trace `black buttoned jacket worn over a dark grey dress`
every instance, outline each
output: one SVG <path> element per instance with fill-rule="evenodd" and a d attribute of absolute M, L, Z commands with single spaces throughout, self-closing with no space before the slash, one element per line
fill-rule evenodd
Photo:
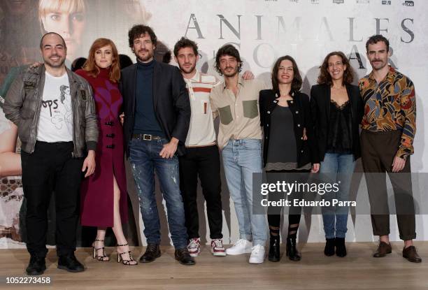
<path fill-rule="evenodd" d="M 309 107 L 309 97 L 301 92 L 292 92 L 292 101 L 288 101 L 294 121 L 294 138 L 297 145 L 297 166 L 301 167 L 308 163 L 319 163 L 317 147 L 313 142 L 313 124 L 311 110 Z M 278 106 L 276 93 L 272 89 L 264 89 L 259 93 L 260 125 L 263 126 L 263 166 L 266 166 L 267 152 L 269 149 L 271 113 Z M 304 129 L 308 140 L 303 140 Z M 287 148 L 284 148 L 287 150 Z"/>

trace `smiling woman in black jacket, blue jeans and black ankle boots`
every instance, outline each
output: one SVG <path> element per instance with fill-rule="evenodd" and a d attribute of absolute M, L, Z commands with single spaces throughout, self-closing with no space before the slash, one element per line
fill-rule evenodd
<path fill-rule="evenodd" d="M 359 124 L 363 114 L 359 89 L 351 85 L 352 67 L 343 52 L 330 52 L 311 89 L 311 112 L 320 157 L 322 179 L 338 182 L 338 201 L 349 201 L 355 160 L 360 157 Z M 322 208 L 326 245 L 324 254 L 346 256 L 348 207 Z"/>

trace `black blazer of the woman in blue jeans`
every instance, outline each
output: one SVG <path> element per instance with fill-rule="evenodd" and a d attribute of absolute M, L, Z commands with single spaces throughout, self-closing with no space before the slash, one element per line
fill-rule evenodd
<path fill-rule="evenodd" d="M 352 154 L 354 160 L 361 156 L 361 147 L 359 145 L 359 124 L 363 116 L 363 102 L 359 95 L 359 89 L 355 85 L 346 85 L 346 92 L 351 105 L 352 119 Z M 324 160 L 327 150 L 327 136 L 330 121 L 330 100 L 331 87 L 329 85 L 313 85 L 311 88 L 311 113 L 313 124 L 315 126 L 315 138 L 318 145 L 318 155 L 320 160 Z"/>

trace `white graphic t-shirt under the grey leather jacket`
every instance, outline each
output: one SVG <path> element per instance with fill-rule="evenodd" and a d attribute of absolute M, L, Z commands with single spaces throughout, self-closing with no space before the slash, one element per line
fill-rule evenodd
<path fill-rule="evenodd" d="M 73 113 L 69 75 L 55 77 L 45 72 L 43 101 L 38 121 L 37 140 L 68 142 L 73 140 Z"/>

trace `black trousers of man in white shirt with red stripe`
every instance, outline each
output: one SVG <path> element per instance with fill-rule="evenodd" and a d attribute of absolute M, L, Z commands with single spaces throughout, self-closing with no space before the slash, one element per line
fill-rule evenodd
<path fill-rule="evenodd" d="M 210 238 L 223 238 L 222 198 L 220 180 L 220 154 L 217 145 L 188 147 L 180 157 L 180 189 L 185 205 L 187 234 L 199 238 L 199 216 L 197 206 L 198 176 L 202 194 L 206 201 Z"/>

